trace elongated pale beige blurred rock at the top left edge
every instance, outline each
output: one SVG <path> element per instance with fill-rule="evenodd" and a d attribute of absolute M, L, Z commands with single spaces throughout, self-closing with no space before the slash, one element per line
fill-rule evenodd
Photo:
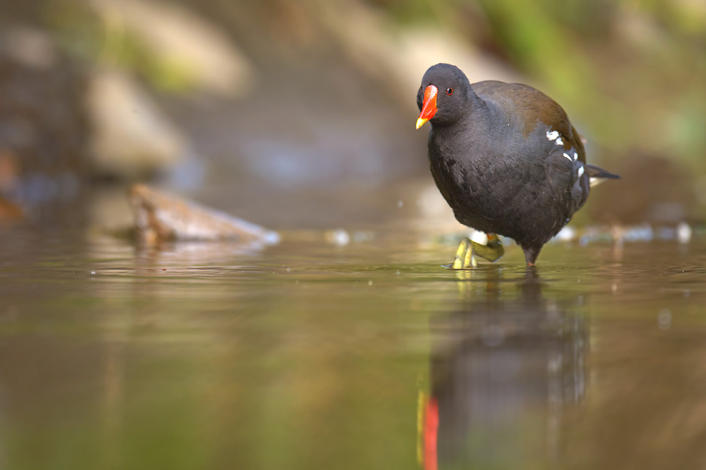
<path fill-rule="evenodd" d="M 92 4 L 120 41 L 138 37 L 160 68 L 184 76 L 194 85 L 238 97 L 253 83 L 253 68 L 213 23 L 184 6 L 148 0 L 94 0 Z"/>

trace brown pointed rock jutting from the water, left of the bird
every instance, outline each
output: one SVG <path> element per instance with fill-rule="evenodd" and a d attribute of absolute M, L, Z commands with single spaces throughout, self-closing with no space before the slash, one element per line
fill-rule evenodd
<path fill-rule="evenodd" d="M 232 240 L 238 243 L 277 243 L 279 234 L 217 210 L 136 184 L 128 192 L 140 241 Z"/>

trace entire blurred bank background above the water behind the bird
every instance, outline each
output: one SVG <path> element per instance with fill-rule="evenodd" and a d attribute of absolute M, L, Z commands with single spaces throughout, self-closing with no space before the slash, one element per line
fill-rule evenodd
<path fill-rule="evenodd" d="M 419 211 L 414 93 L 440 61 L 543 90 L 623 176 L 576 223 L 706 214 L 703 1 L 37 0 L 0 18 L 6 218 L 91 222 L 136 180 L 275 228 Z"/>

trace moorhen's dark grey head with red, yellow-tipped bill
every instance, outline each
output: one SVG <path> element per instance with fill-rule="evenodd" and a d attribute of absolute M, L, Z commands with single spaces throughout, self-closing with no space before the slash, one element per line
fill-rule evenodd
<path fill-rule="evenodd" d="M 417 90 L 419 107 L 419 129 L 426 121 L 433 124 L 453 123 L 467 112 L 471 84 L 465 73 L 451 64 L 436 64 L 429 67 L 421 78 Z"/>

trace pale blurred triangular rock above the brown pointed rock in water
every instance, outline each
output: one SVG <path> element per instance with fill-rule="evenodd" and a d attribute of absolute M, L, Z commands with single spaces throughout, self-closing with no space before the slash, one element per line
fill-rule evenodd
<path fill-rule="evenodd" d="M 88 87 L 88 109 L 99 174 L 138 179 L 173 167 L 187 152 L 184 135 L 126 73 L 96 70 Z"/>

